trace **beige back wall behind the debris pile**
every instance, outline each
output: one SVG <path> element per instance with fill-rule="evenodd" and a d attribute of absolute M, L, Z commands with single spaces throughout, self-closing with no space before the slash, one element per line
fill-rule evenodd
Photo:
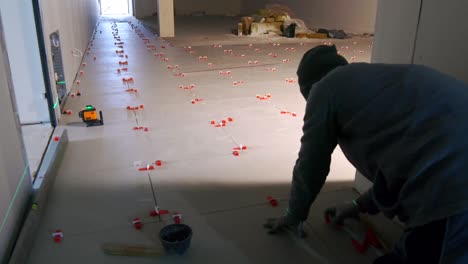
<path fill-rule="evenodd" d="M 251 14 L 266 4 L 289 6 L 295 17 L 312 29 L 344 29 L 352 33 L 373 33 L 377 0 L 243 0 L 242 13 Z"/>

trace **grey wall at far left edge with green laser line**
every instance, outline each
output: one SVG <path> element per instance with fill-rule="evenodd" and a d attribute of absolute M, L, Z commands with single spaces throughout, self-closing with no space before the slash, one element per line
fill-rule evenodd
<path fill-rule="evenodd" d="M 3 16 L 5 9 L 1 9 Z M 12 249 L 31 191 L 0 17 L 0 263 Z"/>

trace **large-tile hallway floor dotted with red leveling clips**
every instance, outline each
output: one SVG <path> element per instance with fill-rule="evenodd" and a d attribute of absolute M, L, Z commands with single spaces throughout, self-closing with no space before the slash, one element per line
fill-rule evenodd
<path fill-rule="evenodd" d="M 30 264 L 372 262 L 372 251 L 357 253 L 348 236 L 322 220 L 326 207 L 357 196 L 351 189 L 354 169 L 339 149 L 326 188 L 310 211 L 309 236 L 270 236 L 262 228 L 266 218 L 281 215 L 287 205 L 305 103 L 297 83 L 285 79 L 296 80 L 301 55 L 312 44 L 214 48 L 217 43 L 211 43 L 190 50 L 171 47 L 138 22 L 129 22 L 117 23 L 117 33 L 110 21 L 101 21 L 84 59 L 84 74 L 72 89 L 80 89 L 82 96 L 68 100 L 66 108 L 74 115 L 62 117 L 70 142 Z M 119 41 L 113 32 L 124 42 L 123 49 L 115 44 Z M 371 39 L 356 41 L 339 48 L 348 59 L 368 60 Z M 116 53 L 120 50 L 123 58 Z M 181 73 L 185 76 L 175 76 Z M 127 86 L 122 78 L 130 77 L 134 83 Z M 243 83 L 234 85 L 236 81 Z M 271 100 L 256 97 L 265 94 L 271 94 Z M 104 126 L 87 128 L 80 122 L 77 113 L 87 104 L 103 111 Z M 228 118 L 232 122 L 225 127 L 210 123 Z M 234 156 L 233 148 L 240 144 L 247 150 Z M 148 173 L 138 170 L 156 160 L 162 166 L 150 171 L 150 177 L 159 206 L 181 213 L 193 228 L 191 248 L 181 257 L 157 259 L 105 255 L 100 250 L 104 242 L 161 247 L 158 232 L 173 220 L 165 215 L 161 223 L 149 216 L 153 202 Z M 269 205 L 270 195 L 280 199 L 278 207 Z M 143 220 L 140 231 L 132 226 L 137 217 Z M 51 235 L 56 229 L 64 235 L 59 244 Z"/>

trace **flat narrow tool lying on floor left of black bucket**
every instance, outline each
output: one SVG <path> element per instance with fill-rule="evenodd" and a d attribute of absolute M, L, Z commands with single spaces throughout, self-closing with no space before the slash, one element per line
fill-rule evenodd
<path fill-rule="evenodd" d="M 101 245 L 101 249 L 107 255 L 112 256 L 162 257 L 166 255 L 163 249 L 140 245 L 105 243 Z"/>

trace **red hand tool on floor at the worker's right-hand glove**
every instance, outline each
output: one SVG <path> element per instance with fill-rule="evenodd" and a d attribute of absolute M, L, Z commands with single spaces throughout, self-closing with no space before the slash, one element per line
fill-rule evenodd
<path fill-rule="evenodd" d="M 330 211 L 325 212 L 325 223 L 332 224 L 333 215 Z M 347 218 L 342 224 L 336 227 L 345 231 L 350 237 L 351 242 L 359 253 L 364 253 L 368 248 L 373 248 L 377 255 L 384 255 L 385 249 L 381 240 L 377 237 L 374 230 L 367 226 L 359 217 Z"/>

